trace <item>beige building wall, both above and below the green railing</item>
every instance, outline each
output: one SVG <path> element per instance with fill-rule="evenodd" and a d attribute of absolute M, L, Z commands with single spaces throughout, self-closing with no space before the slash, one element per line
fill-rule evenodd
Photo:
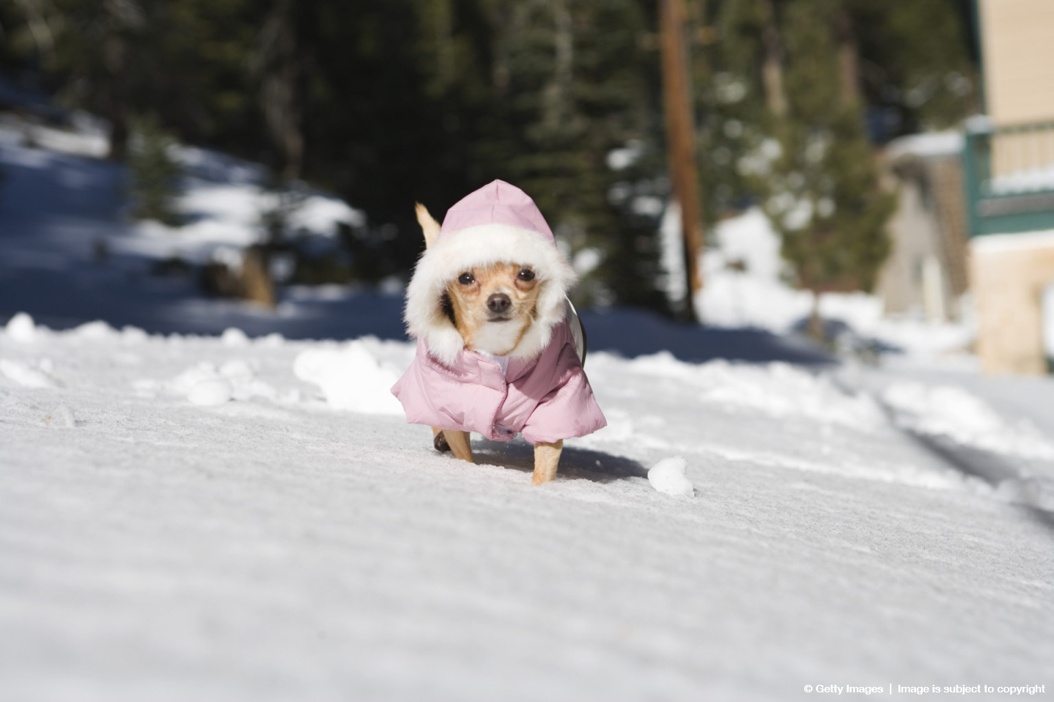
<path fill-rule="evenodd" d="M 1054 122 L 1054 0 L 977 3 L 988 116 L 999 127 Z M 1054 167 L 1054 131 L 997 134 L 991 159 L 994 183 L 1036 189 L 1029 183 Z M 983 369 L 1047 373 L 1042 299 L 1054 283 L 1054 230 L 975 237 L 970 259 Z"/>

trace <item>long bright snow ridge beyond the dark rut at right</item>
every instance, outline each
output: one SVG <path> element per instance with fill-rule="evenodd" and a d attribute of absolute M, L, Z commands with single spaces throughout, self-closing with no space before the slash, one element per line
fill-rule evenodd
<path fill-rule="evenodd" d="M 1030 423 L 1012 424 L 960 387 L 897 382 L 882 393 L 898 425 L 946 437 L 984 450 L 1032 459 L 1054 459 L 1054 445 Z"/>

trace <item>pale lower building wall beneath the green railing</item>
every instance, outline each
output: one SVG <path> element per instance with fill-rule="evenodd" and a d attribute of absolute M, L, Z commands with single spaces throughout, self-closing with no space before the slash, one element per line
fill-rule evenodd
<path fill-rule="evenodd" d="M 1047 373 L 1042 298 L 1054 283 L 1054 232 L 978 237 L 971 259 L 982 368 Z"/>

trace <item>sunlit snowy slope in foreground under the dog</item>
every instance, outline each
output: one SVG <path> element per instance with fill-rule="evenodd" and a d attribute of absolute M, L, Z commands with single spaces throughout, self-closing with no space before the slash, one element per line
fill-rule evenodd
<path fill-rule="evenodd" d="M 950 467 L 880 394 L 593 355 L 610 425 L 532 487 L 529 446 L 469 465 L 389 414 L 412 353 L 9 322 L 0 700 L 1051 689 L 1052 513 Z M 646 478 L 675 456 L 694 497 Z"/>

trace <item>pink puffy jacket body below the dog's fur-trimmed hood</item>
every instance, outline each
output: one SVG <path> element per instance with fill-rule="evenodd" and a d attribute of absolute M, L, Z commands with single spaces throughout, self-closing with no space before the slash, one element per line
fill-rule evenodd
<path fill-rule="evenodd" d="M 607 424 L 566 319 L 552 327 L 541 356 L 509 358 L 504 376 L 496 361 L 467 348 L 452 366 L 444 365 L 418 338 L 417 357 L 392 393 L 412 424 L 475 432 L 492 441 L 522 432 L 531 443 L 552 443 Z"/>

